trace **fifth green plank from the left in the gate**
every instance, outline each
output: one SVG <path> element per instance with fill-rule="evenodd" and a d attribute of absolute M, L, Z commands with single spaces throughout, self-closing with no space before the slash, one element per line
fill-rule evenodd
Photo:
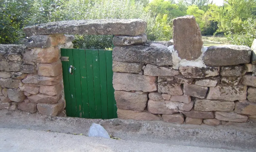
<path fill-rule="evenodd" d="M 95 102 L 94 102 L 94 81 L 93 81 L 93 50 L 85 50 L 86 70 L 87 70 L 87 88 L 89 100 L 89 113 L 90 118 L 95 119 Z"/>

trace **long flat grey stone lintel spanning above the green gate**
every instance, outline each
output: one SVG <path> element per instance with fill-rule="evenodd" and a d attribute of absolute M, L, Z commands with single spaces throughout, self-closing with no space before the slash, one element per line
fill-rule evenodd
<path fill-rule="evenodd" d="M 27 36 L 47 34 L 130 35 L 145 33 L 141 19 L 97 19 L 57 21 L 23 28 Z"/>

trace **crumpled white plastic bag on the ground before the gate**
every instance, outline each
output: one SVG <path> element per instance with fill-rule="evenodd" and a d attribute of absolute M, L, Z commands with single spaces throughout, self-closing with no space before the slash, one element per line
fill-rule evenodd
<path fill-rule="evenodd" d="M 95 123 L 92 123 L 92 125 L 90 126 L 88 136 L 110 138 L 108 132 L 100 124 Z"/>

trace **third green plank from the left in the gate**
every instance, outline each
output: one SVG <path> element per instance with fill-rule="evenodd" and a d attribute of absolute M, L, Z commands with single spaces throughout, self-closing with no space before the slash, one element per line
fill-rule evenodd
<path fill-rule="evenodd" d="M 74 66 L 74 80 L 75 80 L 75 92 L 76 92 L 76 103 L 77 103 L 77 117 L 82 118 L 83 115 L 83 102 L 82 102 L 82 89 L 80 79 L 80 62 L 79 52 L 81 49 L 72 49 L 73 53 L 73 66 Z"/>

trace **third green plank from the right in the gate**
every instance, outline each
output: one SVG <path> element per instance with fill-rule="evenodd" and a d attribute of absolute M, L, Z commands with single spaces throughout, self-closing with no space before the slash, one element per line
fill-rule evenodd
<path fill-rule="evenodd" d="M 93 80 L 94 80 L 94 99 L 96 118 L 101 119 L 101 86 L 100 86 L 100 66 L 99 66 L 99 51 L 93 50 Z"/>

